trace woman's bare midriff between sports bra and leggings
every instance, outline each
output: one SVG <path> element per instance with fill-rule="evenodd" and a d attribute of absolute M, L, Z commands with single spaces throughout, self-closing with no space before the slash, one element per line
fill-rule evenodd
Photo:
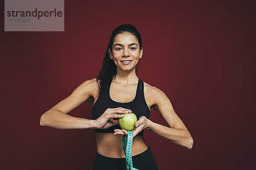
<path fill-rule="evenodd" d="M 113 133 L 96 132 L 97 152 L 103 156 L 111 158 L 125 158 L 122 148 L 122 135 Z M 143 136 L 134 136 L 132 142 L 131 156 L 137 155 L 148 149 Z"/>

